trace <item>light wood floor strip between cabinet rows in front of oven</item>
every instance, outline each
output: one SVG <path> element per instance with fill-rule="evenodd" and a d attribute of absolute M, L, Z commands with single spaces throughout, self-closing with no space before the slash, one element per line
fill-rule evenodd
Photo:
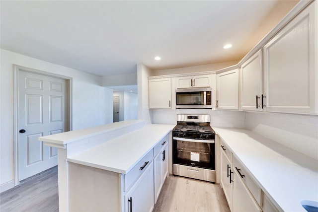
<path fill-rule="evenodd" d="M 153 212 L 230 212 L 220 185 L 169 175 Z"/>

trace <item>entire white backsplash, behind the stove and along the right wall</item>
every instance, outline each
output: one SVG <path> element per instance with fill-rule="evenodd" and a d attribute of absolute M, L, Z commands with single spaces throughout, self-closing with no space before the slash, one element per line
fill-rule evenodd
<path fill-rule="evenodd" d="M 318 160 L 318 116 L 207 109 L 151 111 L 154 124 L 176 124 L 177 114 L 209 114 L 212 128 L 245 128 Z"/>

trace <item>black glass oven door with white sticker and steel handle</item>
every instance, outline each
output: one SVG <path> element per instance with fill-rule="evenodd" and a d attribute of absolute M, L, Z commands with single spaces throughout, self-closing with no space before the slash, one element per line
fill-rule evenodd
<path fill-rule="evenodd" d="M 173 164 L 215 170 L 215 141 L 173 137 Z"/>

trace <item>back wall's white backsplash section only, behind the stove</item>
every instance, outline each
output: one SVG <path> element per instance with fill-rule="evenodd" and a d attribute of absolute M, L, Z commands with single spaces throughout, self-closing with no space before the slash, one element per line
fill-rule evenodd
<path fill-rule="evenodd" d="M 154 124 L 176 124 L 177 114 L 209 114 L 211 127 L 244 128 L 245 115 L 242 111 L 216 111 L 209 109 L 152 110 Z"/>

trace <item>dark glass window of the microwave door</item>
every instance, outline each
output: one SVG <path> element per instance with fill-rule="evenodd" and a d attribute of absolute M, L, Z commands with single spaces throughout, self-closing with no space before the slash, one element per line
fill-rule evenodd
<path fill-rule="evenodd" d="M 182 92 L 176 94 L 177 105 L 203 105 L 204 92 Z"/>

